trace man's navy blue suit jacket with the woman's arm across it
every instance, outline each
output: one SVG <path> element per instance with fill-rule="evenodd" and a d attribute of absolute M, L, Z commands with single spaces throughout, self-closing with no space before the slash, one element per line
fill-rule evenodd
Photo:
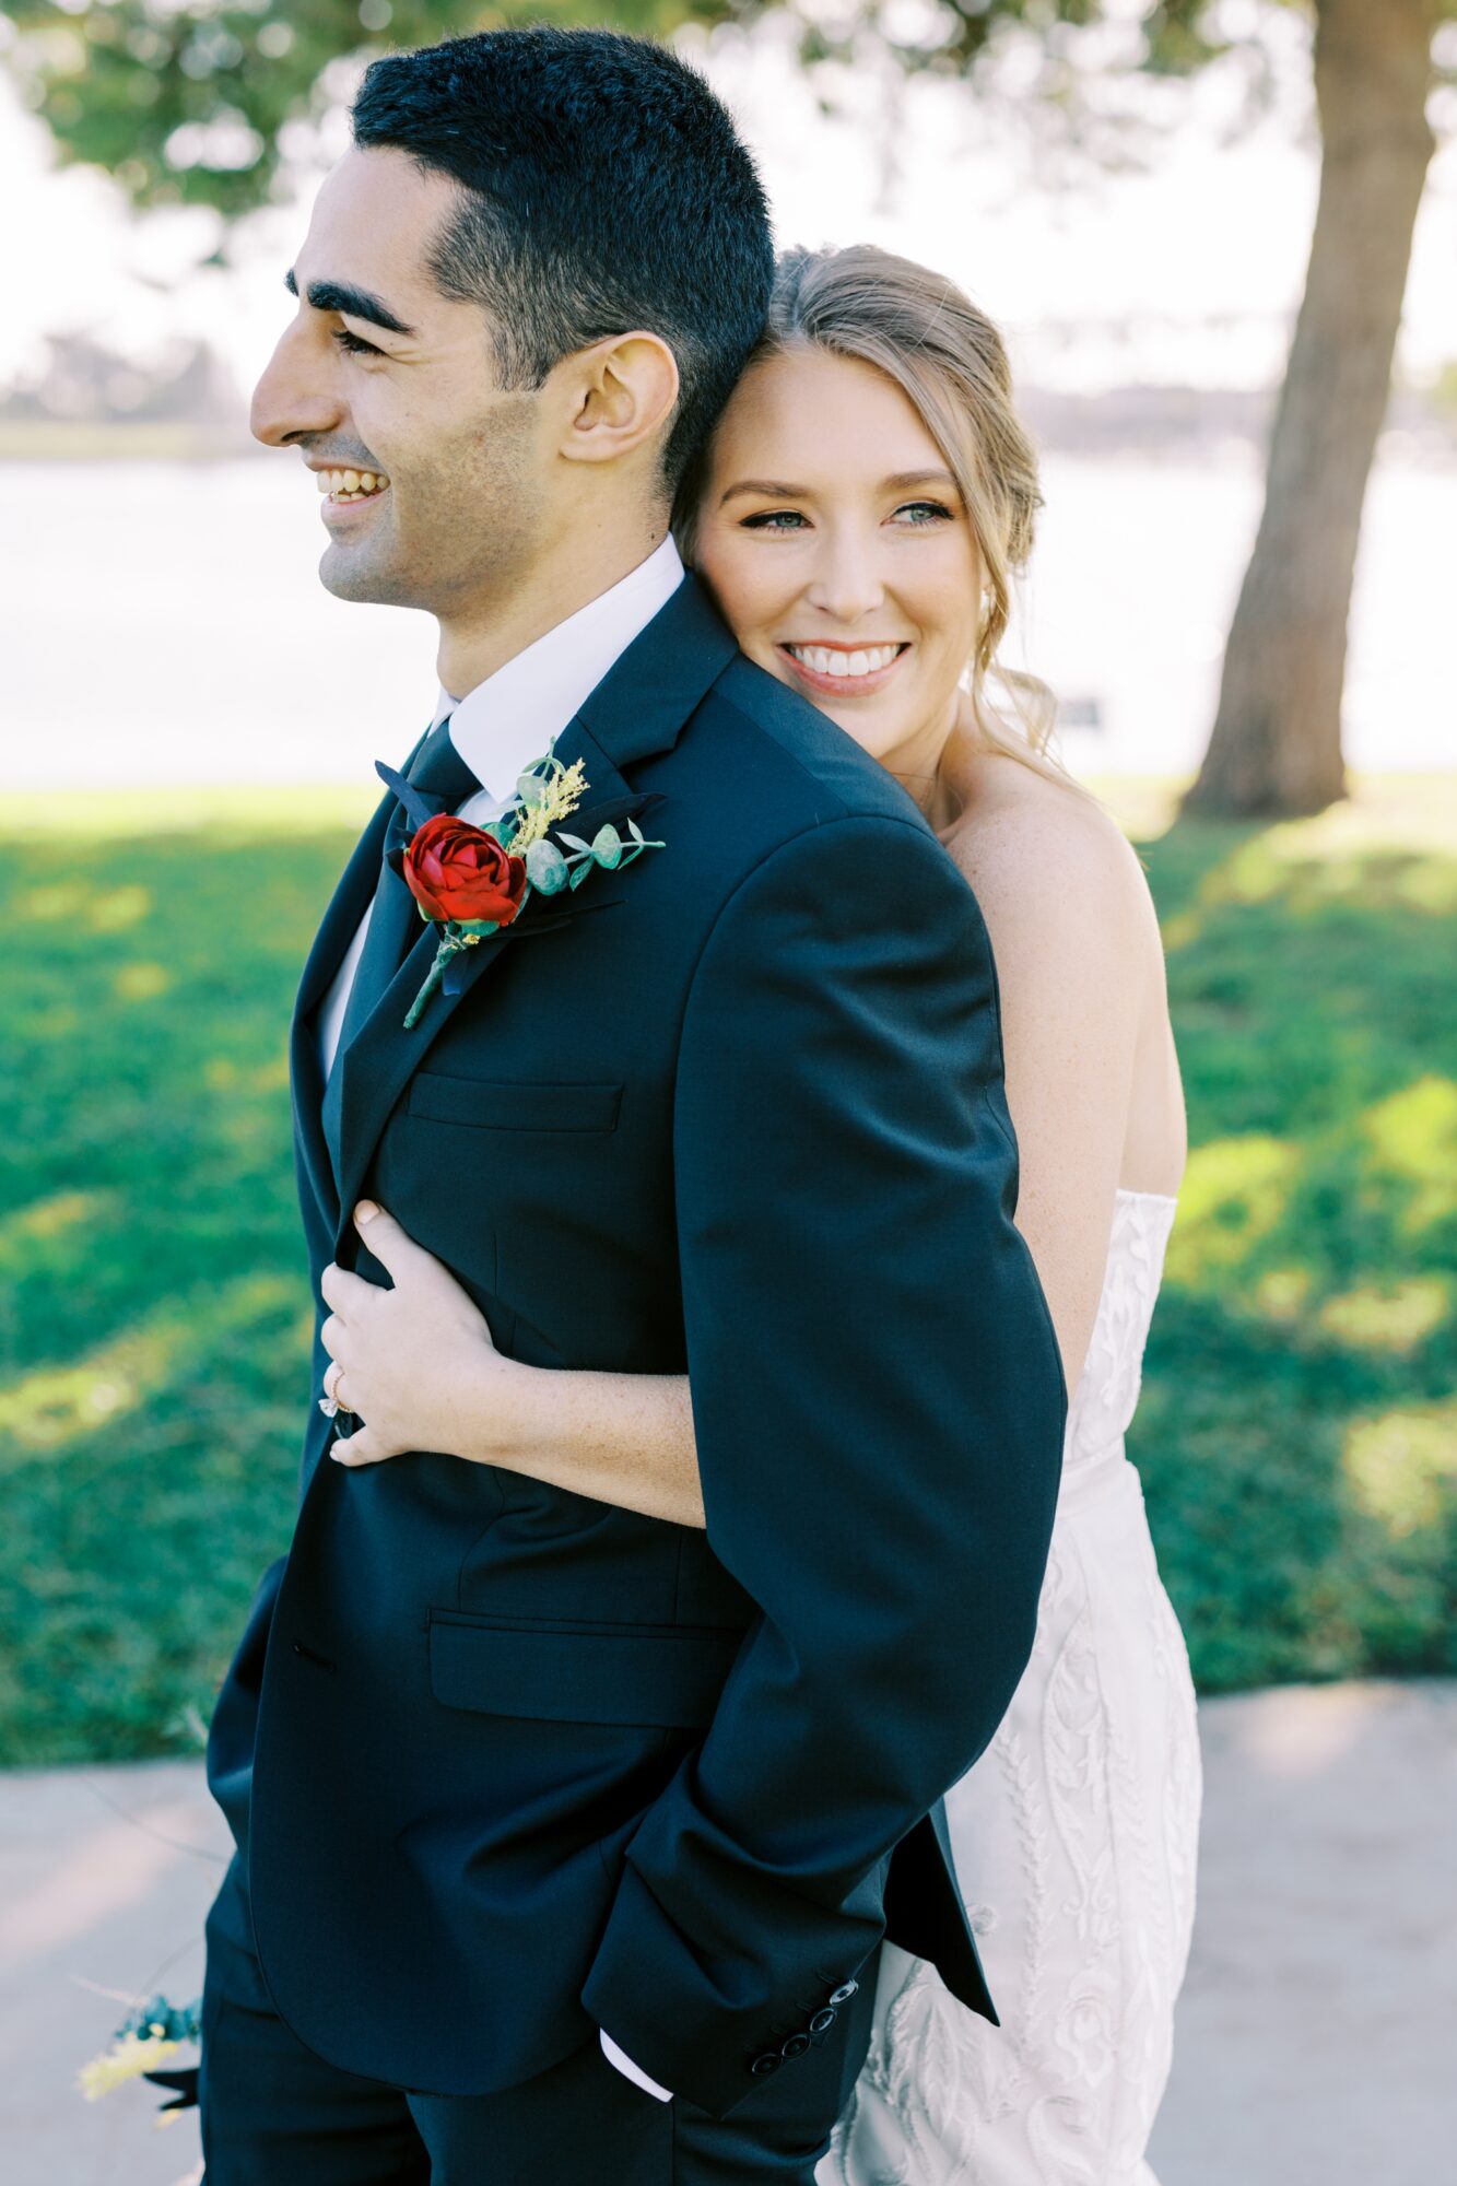
<path fill-rule="evenodd" d="M 707 1535 L 440 1452 L 346 1471 L 311 1403 L 208 1768 L 311 2048 L 477 2094 L 602 2024 L 722 2116 L 834 2040 L 886 1919 L 995 2018 L 936 1801 L 1030 1653 L 1065 1390 L 987 931 L 914 804 L 693 579 L 558 754 L 573 833 L 654 796 L 665 848 L 405 1032 L 422 929 L 330 1143 L 315 1012 L 394 798 L 348 863 L 293 1021 L 311 1272 L 387 1281 L 368 1191 L 510 1358 L 687 1371 Z"/>

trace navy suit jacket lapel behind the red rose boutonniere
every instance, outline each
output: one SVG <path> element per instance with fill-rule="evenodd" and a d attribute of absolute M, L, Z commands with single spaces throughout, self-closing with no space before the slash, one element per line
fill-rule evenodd
<path fill-rule="evenodd" d="M 707 603 L 707 597 L 693 577 L 685 577 L 667 606 L 652 619 L 652 623 L 648 623 L 632 645 L 628 645 L 575 719 L 556 739 L 556 756 L 564 765 L 582 759 L 588 785 L 582 804 L 567 822 L 567 828 L 573 835 L 582 835 L 591 842 L 604 818 L 613 818 L 621 804 L 637 804 L 632 787 L 621 774 L 621 765 L 634 759 L 645 759 L 648 754 L 667 750 L 676 743 L 683 724 L 693 713 L 709 684 L 713 684 L 728 667 L 735 651 L 737 647 L 731 632 Z M 387 807 L 392 804 L 394 798 L 387 798 L 385 807 L 381 807 L 370 824 L 368 839 L 374 844 L 370 888 L 378 877 L 378 859 L 389 820 Z M 648 833 L 652 831 L 648 828 Z M 365 844 L 361 842 L 354 859 L 350 859 L 343 881 L 339 883 L 339 894 L 343 894 L 346 883 L 354 872 L 354 863 L 363 857 L 363 850 Z M 632 881 L 628 872 L 621 877 L 621 890 L 630 885 Z M 481 982 L 490 979 L 494 966 L 508 949 L 534 933 L 549 933 L 569 918 L 591 916 L 593 909 L 604 909 L 608 903 L 617 901 L 621 890 L 617 885 L 617 874 L 595 872 L 591 881 L 584 883 L 580 894 L 573 894 L 571 898 L 532 896 L 516 925 L 505 927 L 501 933 L 486 936 L 468 949 L 464 957 L 457 957 L 457 990 L 451 995 L 444 988 L 435 988 L 422 1016 L 407 1032 L 405 1014 L 424 986 L 424 977 L 435 962 L 435 949 L 440 944 L 440 933 L 433 925 L 420 929 L 420 938 L 400 964 L 400 971 L 389 982 L 378 1003 L 350 1041 L 348 1049 L 341 1049 L 335 1058 L 335 1069 L 343 1073 L 339 1084 L 339 1141 L 330 1148 L 335 1170 L 328 1174 L 330 1196 L 335 1176 L 339 1187 L 337 1196 L 333 1196 L 337 1259 L 341 1259 L 352 1239 L 350 1209 L 359 1198 L 365 1172 L 374 1159 L 374 1148 L 378 1145 L 389 1113 L 400 1100 L 411 1073 L 431 1051 L 433 1043 L 451 1023 L 466 995 L 475 992 Z M 363 901 L 368 901 L 368 896 Z M 363 916 L 363 901 L 359 901 L 357 916 Z M 326 925 L 333 916 L 335 905 L 330 905 Z M 339 925 L 343 925 L 343 914 L 339 914 Z M 352 933 L 352 925 L 348 931 Z M 348 947 L 348 938 L 343 944 Z M 343 951 L 339 949 L 339 955 Z M 333 962 L 337 968 L 337 955 Z M 319 1139 L 322 1137 L 324 1132 L 319 1126 Z M 324 1165 L 328 1170 L 328 1159 Z"/>

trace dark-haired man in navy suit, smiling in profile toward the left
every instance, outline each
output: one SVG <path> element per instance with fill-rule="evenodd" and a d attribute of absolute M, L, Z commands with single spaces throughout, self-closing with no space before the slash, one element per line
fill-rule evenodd
<path fill-rule="evenodd" d="M 770 271 L 702 81 L 543 28 L 376 61 L 289 275 L 254 431 L 343 474 L 324 584 L 429 610 L 448 693 L 300 986 L 315 1290 L 387 1281 L 370 1194 L 508 1355 L 687 1368 L 707 1537 L 346 1469 L 311 1401 L 208 1742 L 210 2186 L 805 2186 L 882 1928 L 995 2018 L 936 1801 L 1030 1650 L 1063 1382 L 974 898 L 667 536 Z M 499 813 L 553 739 L 569 831 L 663 848 L 407 1030 L 418 813 Z"/>

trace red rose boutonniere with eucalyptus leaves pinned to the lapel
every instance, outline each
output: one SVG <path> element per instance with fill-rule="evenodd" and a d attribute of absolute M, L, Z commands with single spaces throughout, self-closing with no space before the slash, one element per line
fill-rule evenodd
<path fill-rule="evenodd" d="M 378 772 L 389 780 L 392 769 Z M 392 787 L 398 789 L 398 776 Z M 416 828 L 400 872 L 420 918 L 440 927 L 440 947 L 405 1014 L 407 1032 L 453 960 L 479 947 L 488 933 L 514 925 L 532 892 L 556 896 L 562 888 L 578 890 L 597 866 L 617 870 L 643 850 L 665 848 L 648 842 L 637 820 L 628 820 L 626 837 L 610 822 L 591 842 L 569 835 L 562 820 L 571 818 L 588 787 L 580 759 L 567 767 L 547 752 L 518 776 L 514 800 L 486 826 L 473 826 L 455 813 L 435 813 Z"/>

